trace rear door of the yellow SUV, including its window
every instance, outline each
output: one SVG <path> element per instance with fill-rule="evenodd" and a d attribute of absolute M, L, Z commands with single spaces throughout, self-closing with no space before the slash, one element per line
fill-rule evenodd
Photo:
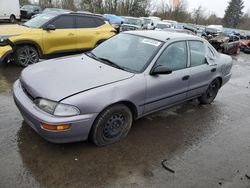
<path fill-rule="evenodd" d="M 105 22 L 99 18 L 91 16 L 77 16 L 77 48 L 94 48 L 98 39 L 100 39 L 103 34 L 99 27 L 104 24 Z"/>

